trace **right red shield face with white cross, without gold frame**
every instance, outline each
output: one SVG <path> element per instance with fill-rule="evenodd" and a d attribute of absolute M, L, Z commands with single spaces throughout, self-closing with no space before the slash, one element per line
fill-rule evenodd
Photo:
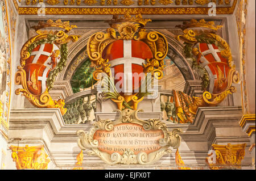
<path fill-rule="evenodd" d="M 209 92 L 218 94 L 228 86 L 228 73 L 230 67 L 228 61 L 221 55 L 221 50 L 214 44 L 197 44 L 200 57 L 200 66 L 204 67 L 210 79 Z"/>

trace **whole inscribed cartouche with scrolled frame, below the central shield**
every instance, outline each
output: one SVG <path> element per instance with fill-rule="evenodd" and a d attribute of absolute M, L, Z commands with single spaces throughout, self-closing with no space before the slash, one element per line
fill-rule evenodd
<path fill-rule="evenodd" d="M 77 131 L 77 144 L 82 150 L 90 149 L 90 155 L 97 155 L 108 164 L 129 165 L 154 163 L 171 153 L 170 147 L 179 147 L 181 129 L 168 132 L 166 124 L 158 119 L 138 119 L 137 112 L 142 110 L 117 111 L 117 120 L 100 120 L 89 132 Z M 138 137 L 144 141 L 138 142 Z"/>

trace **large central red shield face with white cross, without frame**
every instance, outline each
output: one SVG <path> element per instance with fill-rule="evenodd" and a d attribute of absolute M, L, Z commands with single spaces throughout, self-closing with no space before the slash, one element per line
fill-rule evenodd
<path fill-rule="evenodd" d="M 102 58 L 108 59 L 114 70 L 115 86 L 126 95 L 133 94 L 141 86 L 144 78 L 143 63 L 153 58 L 146 43 L 138 40 L 115 40 L 102 52 Z"/>

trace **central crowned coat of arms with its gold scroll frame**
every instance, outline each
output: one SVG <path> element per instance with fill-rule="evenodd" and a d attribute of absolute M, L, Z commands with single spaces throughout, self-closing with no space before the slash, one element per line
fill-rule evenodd
<path fill-rule="evenodd" d="M 139 83 L 136 84 L 135 75 L 151 73 L 158 79 L 163 77 L 163 60 L 168 52 L 168 44 L 162 33 L 146 32 L 144 26 L 149 21 L 151 20 L 143 19 L 141 14 L 125 14 L 123 18 L 114 15 L 109 21 L 111 28 L 108 28 L 106 33 L 97 32 L 88 40 L 88 55 L 96 69 L 93 78 L 98 81 L 98 73 L 108 75 L 104 83 L 110 85 L 108 88 L 114 91 L 106 90 L 105 97 L 117 103 L 119 110 L 137 110 L 137 104 L 145 95 L 150 94 L 141 91 L 135 93 L 145 78 L 140 77 Z M 114 74 L 110 68 L 114 69 Z M 123 77 L 116 78 L 120 73 Z M 116 91 L 117 82 L 123 85 L 121 91 Z"/>

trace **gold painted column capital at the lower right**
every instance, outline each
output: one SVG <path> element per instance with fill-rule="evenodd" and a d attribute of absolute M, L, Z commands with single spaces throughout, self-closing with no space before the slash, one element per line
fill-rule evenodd
<path fill-rule="evenodd" d="M 205 161 L 208 163 L 211 170 L 227 168 L 241 169 L 241 161 L 245 156 L 245 147 L 246 144 L 212 145 L 216 158 L 212 157 L 212 155 L 208 155 L 210 157 L 207 157 Z M 214 163 L 212 159 L 216 159 L 216 163 Z"/>

